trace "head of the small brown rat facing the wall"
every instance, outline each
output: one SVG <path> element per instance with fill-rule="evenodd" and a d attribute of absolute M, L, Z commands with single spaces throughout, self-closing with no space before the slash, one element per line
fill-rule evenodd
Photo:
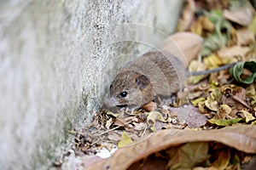
<path fill-rule="evenodd" d="M 137 71 L 121 71 L 110 85 L 108 107 L 140 107 L 154 99 L 154 90 L 148 77 Z"/>

